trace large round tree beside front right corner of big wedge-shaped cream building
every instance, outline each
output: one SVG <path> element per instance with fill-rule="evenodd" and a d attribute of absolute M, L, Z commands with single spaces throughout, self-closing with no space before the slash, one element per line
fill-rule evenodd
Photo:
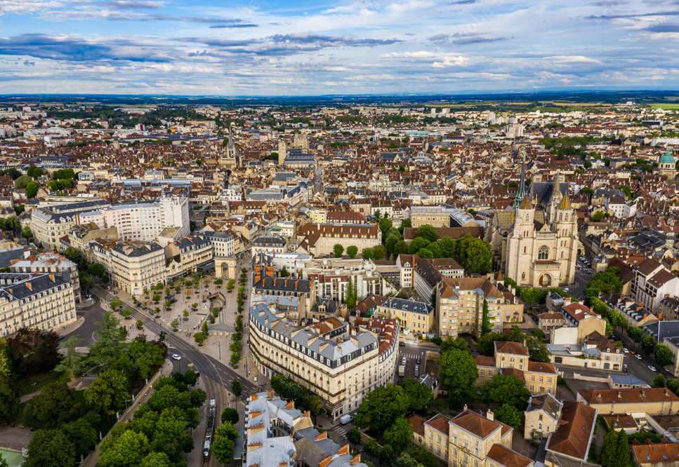
<path fill-rule="evenodd" d="M 356 412 L 356 420 L 361 428 L 381 432 L 404 415 L 408 406 L 409 399 L 403 388 L 387 383 L 365 395 Z"/>

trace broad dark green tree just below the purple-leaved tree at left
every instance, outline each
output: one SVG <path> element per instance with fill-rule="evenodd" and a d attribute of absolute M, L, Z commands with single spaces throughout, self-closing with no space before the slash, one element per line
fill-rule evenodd
<path fill-rule="evenodd" d="M 77 414 L 74 393 L 66 383 L 48 384 L 29 401 L 24 412 L 24 423 L 32 428 L 51 430 L 71 421 Z"/>

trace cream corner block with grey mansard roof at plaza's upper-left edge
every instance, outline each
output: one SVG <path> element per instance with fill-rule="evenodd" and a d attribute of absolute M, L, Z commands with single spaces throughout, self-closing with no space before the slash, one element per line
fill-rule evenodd
<path fill-rule="evenodd" d="M 112 281 L 131 295 L 166 283 L 165 249 L 154 242 L 118 242 L 110 250 Z"/>

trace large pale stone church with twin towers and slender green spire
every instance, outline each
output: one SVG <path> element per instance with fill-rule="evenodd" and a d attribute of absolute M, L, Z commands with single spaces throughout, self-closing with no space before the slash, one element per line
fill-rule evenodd
<path fill-rule="evenodd" d="M 580 241 L 562 175 L 526 189 L 526 159 L 513 207 L 496 211 L 487 232 L 493 263 L 520 287 L 574 283 Z"/>

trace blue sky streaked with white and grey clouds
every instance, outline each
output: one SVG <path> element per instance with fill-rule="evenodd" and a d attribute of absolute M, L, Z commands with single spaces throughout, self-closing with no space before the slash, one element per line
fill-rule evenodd
<path fill-rule="evenodd" d="M 0 0 L 0 94 L 679 89 L 679 0 Z"/>

